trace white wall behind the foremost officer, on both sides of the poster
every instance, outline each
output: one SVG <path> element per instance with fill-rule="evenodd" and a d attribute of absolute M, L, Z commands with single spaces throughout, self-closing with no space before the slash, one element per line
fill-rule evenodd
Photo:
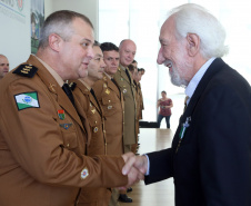
<path fill-rule="evenodd" d="M 31 0 L 26 0 L 23 8 L 18 8 L 17 0 L 0 0 L 0 53 L 8 57 L 10 69 L 24 62 L 31 53 L 30 10 Z M 46 18 L 61 9 L 74 10 L 90 18 L 98 37 L 98 0 L 44 0 Z"/>

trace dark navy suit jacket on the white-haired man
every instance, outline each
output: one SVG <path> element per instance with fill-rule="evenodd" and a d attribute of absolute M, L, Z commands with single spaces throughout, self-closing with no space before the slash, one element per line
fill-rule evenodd
<path fill-rule="evenodd" d="M 178 148 L 188 117 L 190 126 Z M 172 147 L 149 158 L 145 184 L 173 177 L 177 206 L 250 206 L 250 85 L 215 59 L 180 118 Z"/>

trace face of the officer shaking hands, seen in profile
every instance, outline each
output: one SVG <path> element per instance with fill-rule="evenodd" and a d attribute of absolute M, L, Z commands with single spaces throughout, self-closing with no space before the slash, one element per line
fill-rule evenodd
<path fill-rule="evenodd" d="M 61 41 L 60 67 L 63 70 L 61 77 L 67 79 L 79 79 L 87 75 L 90 60 L 93 58 L 93 30 L 90 24 L 80 18 L 72 23 L 73 35 L 70 40 Z"/>

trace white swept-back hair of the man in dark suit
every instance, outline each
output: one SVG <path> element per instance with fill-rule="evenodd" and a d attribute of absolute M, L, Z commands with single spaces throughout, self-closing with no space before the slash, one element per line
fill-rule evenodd
<path fill-rule="evenodd" d="M 228 53 L 224 28 L 203 7 L 187 3 L 171 10 L 169 17 L 171 16 L 175 22 L 177 39 L 185 38 L 188 33 L 198 35 L 201 41 L 200 51 L 204 58 L 223 57 Z"/>

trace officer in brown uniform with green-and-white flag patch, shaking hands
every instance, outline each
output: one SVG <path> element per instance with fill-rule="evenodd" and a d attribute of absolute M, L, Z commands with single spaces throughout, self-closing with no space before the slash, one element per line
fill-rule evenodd
<path fill-rule="evenodd" d="M 73 206 L 81 187 L 135 180 L 121 173 L 126 156 L 86 156 L 87 128 L 64 81 L 86 73 L 92 45 L 86 16 L 57 11 L 44 21 L 37 56 L 0 81 L 2 206 Z"/>

